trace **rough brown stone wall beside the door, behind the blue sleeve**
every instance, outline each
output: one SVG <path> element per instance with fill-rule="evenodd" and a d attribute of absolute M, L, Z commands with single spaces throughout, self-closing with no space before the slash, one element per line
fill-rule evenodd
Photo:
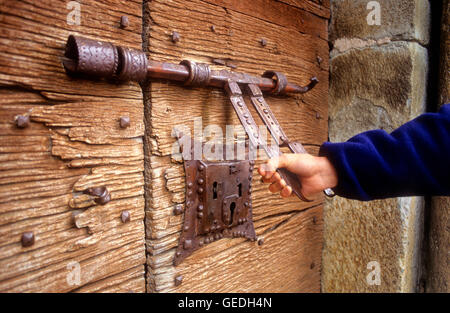
<path fill-rule="evenodd" d="M 380 5 L 380 25 L 369 25 L 368 15 L 376 13 L 374 7 L 368 9 L 369 2 Z M 346 141 L 370 129 L 390 132 L 424 112 L 429 2 L 331 3 L 330 141 Z M 329 200 L 325 207 L 322 291 L 416 291 L 423 207 L 420 197 Z M 379 282 L 373 280 L 377 277 Z"/>

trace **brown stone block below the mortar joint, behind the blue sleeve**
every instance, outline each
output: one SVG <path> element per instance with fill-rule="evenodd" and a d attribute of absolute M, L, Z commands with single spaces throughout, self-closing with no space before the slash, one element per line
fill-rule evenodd
<path fill-rule="evenodd" d="M 390 132 L 426 108 L 427 50 L 391 42 L 351 49 L 330 62 L 332 142 L 371 129 Z M 325 205 L 324 292 L 412 292 L 418 285 L 424 201 L 421 197 Z M 367 281 L 379 265 L 380 284 Z"/>

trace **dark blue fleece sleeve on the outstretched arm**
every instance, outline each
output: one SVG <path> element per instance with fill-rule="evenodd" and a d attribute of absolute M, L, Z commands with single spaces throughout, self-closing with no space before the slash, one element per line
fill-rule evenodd
<path fill-rule="evenodd" d="M 325 142 L 338 173 L 339 196 L 373 200 L 401 196 L 450 195 L 450 104 L 422 114 L 391 134 L 373 130 L 347 142 Z"/>

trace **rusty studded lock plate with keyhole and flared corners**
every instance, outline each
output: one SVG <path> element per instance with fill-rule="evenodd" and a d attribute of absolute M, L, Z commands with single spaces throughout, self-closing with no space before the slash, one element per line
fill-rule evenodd
<path fill-rule="evenodd" d="M 185 160 L 184 168 L 184 224 L 173 264 L 222 238 L 255 241 L 251 200 L 254 161 Z"/>

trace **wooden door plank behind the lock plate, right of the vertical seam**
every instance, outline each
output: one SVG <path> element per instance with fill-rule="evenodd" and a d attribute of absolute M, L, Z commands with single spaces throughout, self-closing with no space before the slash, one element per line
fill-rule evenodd
<path fill-rule="evenodd" d="M 307 94 L 266 98 L 290 139 L 316 154 L 327 139 L 328 44 L 326 19 L 310 11 L 277 1 L 153 0 L 146 6 L 144 45 L 149 57 L 160 61 L 190 59 L 216 69 L 230 69 L 226 65 L 232 63 L 235 71 L 254 75 L 273 69 L 300 85 L 317 76 L 320 83 Z M 173 31 L 180 34 L 177 43 L 170 40 Z M 213 64 L 214 59 L 226 60 L 225 66 Z M 185 201 L 183 164 L 171 157 L 173 128 L 184 125 L 192 132 L 194 119 L 201 118 L 203 128 L 216 124 L 225 133 L 226 125 L 239 123 L 228 101 L 219 89 L 169 82 L 152 82 L 146 88 L 148 290 L 318 292 L 323 199 L 302 203 L 271 195 L 256 170 L 253 213 L 264 245 L 222 239 L 172 265 L 183 223 L 183 215 L 173 215 L 173 209 Z M 175 287 L 177 275 L 184 278 Z"/>

